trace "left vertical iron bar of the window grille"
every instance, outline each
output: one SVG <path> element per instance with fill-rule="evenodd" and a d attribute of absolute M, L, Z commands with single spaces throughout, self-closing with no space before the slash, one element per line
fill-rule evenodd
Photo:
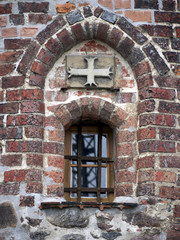
<path fill-rule="evenodd" d="M 78 184 L 77 184 L 77 199 L 81 201 L 81 153 L 82 153 L 82 127 L 78 125 Z"/>

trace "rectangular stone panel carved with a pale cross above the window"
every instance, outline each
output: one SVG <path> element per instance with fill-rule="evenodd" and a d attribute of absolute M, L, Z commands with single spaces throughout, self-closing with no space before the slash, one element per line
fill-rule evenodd
<path fill-rule="evenodd" d="M 115 61 L 108 55 L 66 56 L 66 85 L 72 88 L 113 88 Z"/>

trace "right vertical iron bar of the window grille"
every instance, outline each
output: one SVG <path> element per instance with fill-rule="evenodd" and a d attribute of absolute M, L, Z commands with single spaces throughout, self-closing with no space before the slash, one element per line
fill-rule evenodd
<path fill-rule="evenodd" d="M 97 202 L 101 201 L 101 156 L 102 156 L 102 126 L 98 129 L 98 177 L 97 177 Z"/>

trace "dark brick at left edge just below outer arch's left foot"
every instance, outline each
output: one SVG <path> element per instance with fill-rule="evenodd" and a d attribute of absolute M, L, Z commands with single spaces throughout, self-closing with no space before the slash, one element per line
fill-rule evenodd
<path fill-rule="evenodd" d="M 11 76 L 2 78 L 2 88 L 17 88 L 24 84 L 24 76 Z"/>

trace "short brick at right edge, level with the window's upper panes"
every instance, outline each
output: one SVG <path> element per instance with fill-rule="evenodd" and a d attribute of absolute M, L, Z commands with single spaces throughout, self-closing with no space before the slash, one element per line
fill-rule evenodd
<path fill-rule="evenodd" d="M 180 141 L 180 129 L 159 129 L 159 137 L 162 140 Z"/>

